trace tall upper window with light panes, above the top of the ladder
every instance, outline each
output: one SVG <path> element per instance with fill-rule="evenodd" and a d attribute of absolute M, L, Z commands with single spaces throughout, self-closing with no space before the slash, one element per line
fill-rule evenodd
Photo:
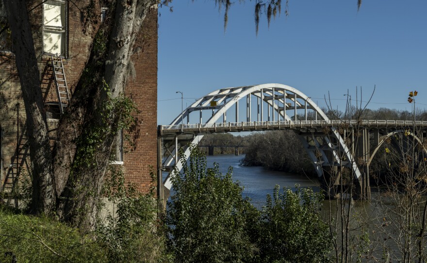
<path fill-rule="evenodd" d="M 49 3 L 60 3 L 64 5 L 64 29 L 58 30 L 55 27 L 52 26 L 45 26 L 45 4 L 49 4 Z M 42 50 L 43 50 L 43 54 L 46 55 L 50 55 L 50 56 L 56 56 L 56 54 L 50 53 L 48 51 L 45 51 L 45 40 L 44 40 L 44 35 L 45 32 L 54 32 L 54 33 L 63 33 L 64 35 L 64 47 L 62 47 L 62 50 L 64 50 L 64 54 L 59 55 L 59 57 L 61 58 L 68 58 L 68 35 L 69 35 L 69 30 L 68 30 L 68 1 L 67 0 L 47 0 L 45 2 L 43 2 L 42 5 Z M 62 53 L 61 50 L 61 53 Z"/>

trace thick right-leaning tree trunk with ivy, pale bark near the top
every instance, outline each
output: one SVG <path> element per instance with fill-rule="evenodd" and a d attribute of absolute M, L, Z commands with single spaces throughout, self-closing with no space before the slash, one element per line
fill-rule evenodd
<path fill-rule="evenodd" d="M 99 143 L 93 159 L 96 162 L 94 164 L 96 168 L 91 164 L 87 167 L 73 165 L 70 178 L 60 198 L 64 200 L 60 206 L 64 211 L 64 220 L 82 230 L 90 230 L 94 226 L 98 212 L 96 206 L 116 136 L 117 121 L 106 124 L 102 120 L 103 103 L 109 99 L 109 96 L 114 99 L 123 93 L 136 36 L 150 7 L 155 3 L 155 0 L 118 0 L 116 3 L 115 22 L 110 34 L 105 72 L 103 72 L 103 79 L 108 89 L 98 87 L 99 99 L 93 99 L 95 109 L 86 112 L 83 125 L 83 131 L 90 131 L 91 128 L 98 126 L 100 130 L 107 131 L 107 134 Z M 110 118 L 115 119 L 117 116 L 113 115 Z M 83 132 L 81 136 L 91 135 Z M 82 158 L 79 154 L 84 152 L 86 147 L 87 145 L 84 144 L 77 145 L 73 164 L 79 162 Z"/>

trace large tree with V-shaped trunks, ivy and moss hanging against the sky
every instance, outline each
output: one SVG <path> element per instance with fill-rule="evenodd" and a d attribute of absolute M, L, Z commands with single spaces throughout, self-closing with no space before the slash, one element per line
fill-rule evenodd
<path fill-rule="evenodd" d="M 131 104 L 121 96 L 131 65 L 135 39 L 150 7 L 168 5 L 172 0 L 90 0 L 110 6 L 111 18 L 95 29 L 96 41 L 106 46 L 91 45 L 90 55 L 75 87 L 66 113 L 58 124 L 58 140 L 50 149 L 48 124 L 43 110 L 40 71 L 31 32 L 27 6 L 40 5 L 43 0 L 3 0 L 12 32 L 16 68 L 27 117 L 28 140 L 33 177 L 34 214 L 57 213 L 74 226 L 90 228 L 96 212 L 102 181 L 109 163 L 116 132 L 131 124 Z M 228 10 L 232 0 L 214 0 Z M 239 0 L 244 2 L 244 0 Z M 255 24 L 260 16 L 268 22 L 281 12 L 281 0 L 255 0 Z M 358 6 L 361 1 L 358 0 Z M 285 1 L 287 15 L 288 0 Z M 22 12 L 25 11 L 26 12 Z M 98 9 L 92 10 L 97 16 Z M 95 11 L 94 11 L 95 10 Z M 2 29 L 4 30 L 4 28 Z M 108 63 L 107 63 L 108 62 Z M 75 150 L 73 150 L 75 149 Z M 75 152 L 70 156 L 70 152 Z M 83 161 L 84 160 L 84 161 Z"/>

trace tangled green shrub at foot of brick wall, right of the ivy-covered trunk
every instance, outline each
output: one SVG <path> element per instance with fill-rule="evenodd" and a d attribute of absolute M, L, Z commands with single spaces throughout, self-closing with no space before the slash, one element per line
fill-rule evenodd
<path fill-rule="evenodd" d="M 134 185 L 125 185 L 121 168 L 112 166 L 104 196 L 109 211 L 100 215 L 96 236 L 108 262 L 171 262 L 153 193 L 141 195 Z"/>

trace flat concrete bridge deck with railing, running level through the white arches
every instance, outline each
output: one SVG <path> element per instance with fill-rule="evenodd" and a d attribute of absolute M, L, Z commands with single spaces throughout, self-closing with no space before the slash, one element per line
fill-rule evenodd
<path fill-rule="evenodd" d="M 401 130 L 421 128 L 427 130 L 427 121 L 408 120 L 297 120 L 297 121 L 249 121 L 226 123 L 197 123 L 178 125 L 159 125 L 160 136 L 178 134 L 197 134 L 213 132 L 240 132 L 240 131 L 273 131 L 285 129 L 323 129 L 325 127 L 340 127 L 347 129 L 369 128 L 378 130 Z"/>

